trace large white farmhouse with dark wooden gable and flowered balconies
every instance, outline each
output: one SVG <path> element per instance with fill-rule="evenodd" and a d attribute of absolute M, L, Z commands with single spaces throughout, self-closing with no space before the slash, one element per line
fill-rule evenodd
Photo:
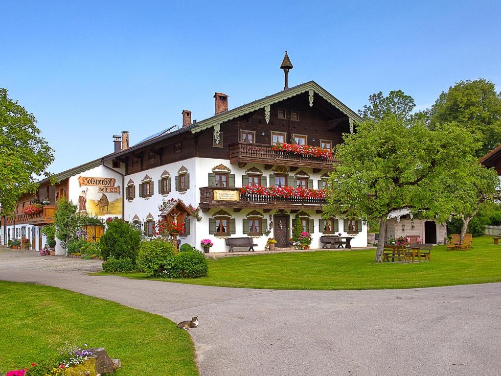
<path fill-rule="evenodd" d="M 289 247 L 296 217 L 312 234 L 312 248 L 321 247 L 323 234 L 335 233 L 354 236 L 352 246 L 366 246 L 362 221 L 322 218 L 324 188 L 336 164 L 332 150 L 362 119 L 313 81 L 289 88 L 287 53 L 281 68 L 284 90 L 233 109 L 228 95 L 216 92 L 214 116 L 196 122 L 191 111 L 182 110 L 182 127 L 130 147 L 123 132 L 114 136 L 112 154 L 60 174 L 59 185 L 42 184 L 37 199 L 55 204 L 64 183 L 60 195 L 78 203 L 79 210 L 122 216 L 146 236 L 154 236 L 162 203 L 179 199 L 200 208 L 186 218 L 181 242 L 197 246 L 211 239 L 211 252 L 227 251 L 228 237 L 253 237 L 256 249 L 265 249 L 274 237 L 277 247 Z M 42 226 L 50 222 L 47 215 L 45 222 L 33 224 L 22 217 L 21 203 L 15 219 L 5 223 L 7 239 L 31 236 L 33 247 L 40 248 L 39 229 L 29 235 L 14 227 Z"/>

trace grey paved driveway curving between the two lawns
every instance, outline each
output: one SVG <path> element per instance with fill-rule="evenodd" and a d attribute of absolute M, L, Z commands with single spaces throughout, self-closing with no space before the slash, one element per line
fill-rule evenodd
<path fill-rule="evenodd" d="M 499 375 L 501 284 L 278 291 L 92 277 L 97 261 L 0 252 L 0 279 L 114 300 L 190 331 L 202 375 Z M 280 276 L 277 276 L 280 278 Z"/>

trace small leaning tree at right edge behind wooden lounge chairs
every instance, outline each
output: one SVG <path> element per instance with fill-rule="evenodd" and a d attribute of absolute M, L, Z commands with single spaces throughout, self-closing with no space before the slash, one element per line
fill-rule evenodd
<path fill-rule="evenodd" d="M 484 203 L 499 199 L 499 178 L 492 168 L 476 162 L 456 169 L 454 174 L 444 176 L 442 188 L 445 194 L 452 194 L 451 213 L 462 221 L 461 241 L 471 219 L 477 215 Z"/>

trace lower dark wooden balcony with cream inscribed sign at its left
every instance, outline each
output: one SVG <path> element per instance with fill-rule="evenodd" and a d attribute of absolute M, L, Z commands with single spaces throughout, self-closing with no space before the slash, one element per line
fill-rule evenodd
<path fill-rule="evenodd" d="M 327 201 L 316 198 L 300 197 L 269 197 L 255 194 L 240 194 L 239 188 L 221 188 L 217 186 L 205 186 L 200 188 L 200 208 L 207 212 L 212 208 L 234 209 L 261 209 L 265 213 L 272 210 L 285 209 L 299 210 L 322 210 Z"/>

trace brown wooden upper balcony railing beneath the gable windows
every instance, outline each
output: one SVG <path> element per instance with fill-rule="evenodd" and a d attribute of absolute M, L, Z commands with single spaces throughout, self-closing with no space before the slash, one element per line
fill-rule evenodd
<path fill-rule="evenodd" d="M 247 163 L 262 163 L 265 168 L 273 165 L 285 165 L 295 167 L 310 167 L 317 170 L 334 170 L 334 165 L 338 163 L 334 157 L 320 158 L 311 155 L 299 155 L 273 150 L 272 145 L 258 143 L 237 142 L 229 145 L 229 160 L 231 163 L 238 163 L 239 167 L 244 167 Z"/>

